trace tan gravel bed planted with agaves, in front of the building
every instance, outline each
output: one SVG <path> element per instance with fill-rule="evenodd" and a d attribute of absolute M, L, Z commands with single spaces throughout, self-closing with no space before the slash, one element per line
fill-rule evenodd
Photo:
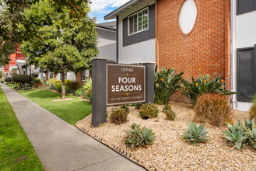
<path fill-rule="evenodd" d="M 199 145 L 186 143 L 182 135 L 188 129 L 188 122 L 193 121 L 193 109 L 191 105 L 185 103 L 170 103 L 170 105 L 177 113 L 174 121 L 165 119 L 163 106 L 158 106 L 159 116 L 149 120 L 142 120 L 139 117 L 139 110 L 130 106 L 128 122 L 125 124 L 112 124 L 107 117 L 106 124 L 93 127 L 89 115 L 78 121 L 76 127 L 148 170 L 256 170 L 256 150 L 247 148 L 239 151 L 231 147 L 223 138 L 222 131 L 227 127 L 214 127 L 206 123 L 210 140 Z M 116 107 L 107 107 L 108 116 L 112 108 Z M 233 122 L 237 122 L 237 119 L 244 122 L 247 117 L 249 113 L 233 110 Z M 133 123 L 150 127 L 156 132 L 153 145 L 135 149 L 125 146 L 125 131 L 128 131 Z"/>

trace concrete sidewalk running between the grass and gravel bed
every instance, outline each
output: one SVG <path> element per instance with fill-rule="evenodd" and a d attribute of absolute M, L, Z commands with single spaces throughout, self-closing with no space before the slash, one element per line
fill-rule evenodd
<path fill-rule="evenodd" d="M 0 84 L 46 170 L 145 170 Z"/>

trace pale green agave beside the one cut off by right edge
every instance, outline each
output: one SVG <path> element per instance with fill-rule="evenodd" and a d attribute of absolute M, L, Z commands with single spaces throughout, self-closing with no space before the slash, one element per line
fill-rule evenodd
<path fill-rule="evenodd" d="M 244 142 L 247 141 L 247 138 L 250 134 L 244 134 L 243 125 L 238 123 L 235 125 L 227 124 L 229 131 L 223 131 L 225 138 L 232 142 L 232 146 L 235 146 L 237 149 L 245 148 Z"/>

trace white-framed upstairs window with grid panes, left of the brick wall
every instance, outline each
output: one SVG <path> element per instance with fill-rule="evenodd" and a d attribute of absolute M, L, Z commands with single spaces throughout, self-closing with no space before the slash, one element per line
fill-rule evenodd
<path fill-rule="evenodd" d="M 142 9 L 141 11 L 128 17 L 128 33 L 132 35 L 139 33 L 149 28 L 149 9 Z"/>

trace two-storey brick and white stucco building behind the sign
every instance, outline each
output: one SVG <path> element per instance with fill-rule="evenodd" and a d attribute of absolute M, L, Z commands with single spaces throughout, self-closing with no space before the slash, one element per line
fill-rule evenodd
<path fill-rule="evenodd" d="M 256 0 L 131 0 L 117 19 L 117 62 L 156 62 L 190 79 L 223 75 L 233 108 L 256 92 Z M 182 99 L 181 94 L 172 96 Z"/>

